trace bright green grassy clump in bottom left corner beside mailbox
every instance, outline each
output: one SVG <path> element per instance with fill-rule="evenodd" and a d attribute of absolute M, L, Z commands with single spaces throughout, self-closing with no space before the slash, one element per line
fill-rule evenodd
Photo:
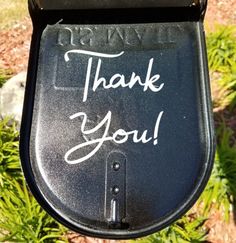
<path fill-rule="evenodd" d="M 64 242 L 63 228 L 42 210 L 23 178 L 8 177 L 0 195 L 0 242 Z"/>

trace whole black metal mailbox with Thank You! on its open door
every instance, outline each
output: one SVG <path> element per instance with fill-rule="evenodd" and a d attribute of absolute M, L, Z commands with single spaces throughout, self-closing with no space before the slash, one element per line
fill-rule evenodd
<path fill-rule="evenodd" d="M 30 0 L 21 129 L 28 185 L 58 221 L 113 239 L 158 231 L 209 178 L 205 0 Z"/>

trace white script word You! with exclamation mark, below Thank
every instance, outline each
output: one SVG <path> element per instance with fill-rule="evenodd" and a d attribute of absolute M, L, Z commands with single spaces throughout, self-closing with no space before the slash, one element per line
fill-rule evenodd
<path fill-rule="evenodd" d="M 111 119 L 112 119 L 111 111 L 108 111 L 106 116 L 104 117 L 104 119 L 97 126 L 95 126 L 92 129 L 86 129 L 86 123 L 88 120 L 86 113 L 78 112 L 78 113 L 72 115 L 70 117 L 70 119 L 74 120 L 75 118 L 82 118 L 81 132 L 82 132 L 85 140 L 87 140 L 86 139 L 87 135 L 92 135 L 92 134 L 96 133 L 97 131 L 99 131 L 100 129 L 102 129 L 102 130 L 104 129 L 104 132 L 100 138 L 94 139 L 92 141 L 86 141 L 84 143 L 78 144 L 78 145 L 74 146 L 73 148 L 71 148 L 65 154 L 65 161 L 71 165 L 82 163 L 82 162 L 88 160 L 89 158 L 93 157 L 99 151 L 99 149 L 102 147 L 102 145 L 105 142 L 113 141 L 116 144 L 123 144 L 128 141 L 129 137 L 132 137 L 134 143 L 146 144 L 146 143 L 152 142 L 153 145 L 155 146 L 158 144 L 158 133 L 159 133 L 160 122 L 161 122 L 163 114 L 164 114 L 164 112 L 161 111 L 159 113 L 159 115 L 157 116 L 156 125 L 155 125 L 154 131 L 152 133 L 153 136 L 150 136 L 150 135 L 148 136 L 148 130 L 143 131 L 142 134 L 140 135 L 138 130 L 125 131 L 123 129 L 119 129 L 115 133 L 113 133 L 112 136 L 109 136 Z M 74 160 L 70 159 L 70 157 L 73 155 L 74 152 L 79 151 L 80 149 L 85 148 L 85 147 L 90 147 L 91 145 L 96 145 L 96 146 L 95 146 L 95 148 L 91 149 L 91 151 L 87 155 L 80 157 L 80 158 L 76 158 Z M 94 146 L 92 146 L 92 147 L 94 147 Z"/>

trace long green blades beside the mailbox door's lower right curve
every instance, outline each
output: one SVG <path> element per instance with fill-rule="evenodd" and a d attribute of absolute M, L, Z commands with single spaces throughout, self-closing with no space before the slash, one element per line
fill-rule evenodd
<path fill-rule="evenodd" d="M 215 166 L 199 202 L 203 202 L 204 215 L 207 216 L 213 207 L 220 209 L 229 220 L 236 198 L 236 144 L 231 145 L 232 130 L 224 123 L 218 127 L 217 135 Z"/>

